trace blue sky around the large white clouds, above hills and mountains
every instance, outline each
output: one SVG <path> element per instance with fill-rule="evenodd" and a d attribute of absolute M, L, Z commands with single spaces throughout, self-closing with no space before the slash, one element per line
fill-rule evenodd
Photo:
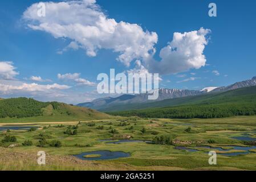
<path fill-rule="evenodd" d="M 90 3 L 92 1 L 90 0 Z M 217 5 L 217 17 L 208 16 L 210 2 Z M 0 97 L 26 96 L 42 101 L 56 100 L 74 104 L 90 101 L 102 97 L 95 92 L 94 83 L 97 82 L 96 77 L 99 73 L 109 73 L 110 68 L 115 68 L 116 72 L 128 71 L 136 68 L 135 61 L 137 59 L 141 59 L 141 62 L 145 61 L 145 57 L 135 57 L 128 61 L 129 67 L 125 65 L 127 60 L 117 61 L 117 57 L 122 53 L 122 51 L 117 51 L 117 47 L 121 44 L 118 42 L 118 36 L 113 41 L 106 40 L 100 43 L 101 48 L 98 47 L 95 50 L 94 56 L 90 55 L 91 53 L 87 52 L 88 47 L 84 48 L 84 46 L 88 46 L 89 43 L 91 45 L 101 42 L 105 38 L 104 35 L 102 38 L 94 37 L 89 43 L 84 43 L 81 35 L 75 35 L 78 33 L 77 31 L 63 32 L 63 34 L 68 34 L 65 38 L 55 36 L 56 32 L 53 33 L 52 30 L 50 32 L 35 23 L 34 21 L 37 19 L 31 14 L 24 17 L 23 13 L 32 11 L 32 8 L 30 10 L 28 8 L 34 3 L 38 3 L 38 1 L 10 0 L 1 2 L 0 63 L 8 63 L 7 65 L 2 64 L 2 69 L 9 66 L 7 71 L 10 73 L 7 73 L 6 70 L 1 72 L 0 68 L 0 84 L 2 88 L 5 88 L 0 89 Z M 202 89 L 208 86 L 229 85 L 256 76 L 255 1 L 98 0 L 92 4 L 97 7 L 91 7 L 91 9 L 96 13 L 103 14 L 107 19 L 113 19 L 116 23 L 137 24 L 142 28 L 140 32 L 142 38 L 138 38 L 138 44 L 142 40 L 147 44 L 148 39 L 155 38 L 153 32 L 157 34 L 157 40 L 154 39 L 148 43 L 150 47 L 148 49 L 153 47 L 156 50 L 152 55 L 154 62 L 152 65 L 159 66 L 158 70 L 162 73 L 160 73 L 161 88 Z M 99 7 L 101 10 L 98 10 Z M 83 11 L 84 9 L 78 10 Z M 66 15 L 71 17 L 72 10 L 67 11 Z M 47 21 L 59 23 L 62 19 L 58 18 L 58 16 L 56 19 L 49 18 L 40 23 Z M 74 16 L 68 22 L 90 24 L 90 17 L 84 18 L 86 20 L 76 18 Z M 94 18 L 98 17 L 95 16 L 92 20 Z M 31 28 L 28 26 L 29 24 L 41 29 Z M 168 46 L 168 42 L 172 42 L 174 32 L 184 34 L 184 32 L 199 31 L 201 27 L 210 30 L 203 36 L 208 43 L 200 52 L 200 55 L 205 56 L 206 63 L 198 66 L 200 67 L 198 69 L 196 67 L 178 69 L 178 73 L 174 73 L 173 69 L 163 71 L 161 67 L 176 67 L 176 61 L 172 62 L 173 60 L 171 60 L 173 57 L 169 57 L 170 60 L 166 60 L 165 64 L 157 64 L 164 60 L 160 57 L 160 50 Z M 136 34 L 137 29 L 134 28 L 132 31 Z M 144 35 L 147 31 L 151 34 Z M 88 33 L 88 30 L 86 32 Z M 128 35 L 127 32 L 122 33 L 125 40 L 134 37 Z M 79 48 L 66 48 L 74 40 Z M 142 44 L 144 44 L 143 41 Z M 138 46 L 136 43 L 132 44 L 133 48 Z M 129 47 L 131 45 L 125 43 L 122 46 Z M 188 46 L 191 45 L 188 44 Z M 145 68 L 151 72 L 154 66 L 145 66 Z M 80 73 L 80 75 L 73 75 L 74 73 Z M 7 74 L 9 75 L 6 76 Z M 58 74 L 60 74 L 59 77 Z M 32 76 L 34 78 L 31 78 Z M 36 84 L 36 89 L 31 89 L 32 86 L 35 86 L 30 85 L 33 83 Z M 27 85 L 24 86 L 24 84 Z M 49 89 L 45 90 L 46 85 Z"/>

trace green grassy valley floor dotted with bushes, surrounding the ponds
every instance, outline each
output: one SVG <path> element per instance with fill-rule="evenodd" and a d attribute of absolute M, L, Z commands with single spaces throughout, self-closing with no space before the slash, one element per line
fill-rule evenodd
<path fill-rule="evenodd" d="M 256 117 L 243 116 L 218 119 L 143 119 L 130 117 L 111 121 L 75 122 L 77 135 L 64 134 L 68 125 L 39 122 L 36 131 L 0 132 L 0 140 L 5 135 L 15 136 L 17 142 L 2 142 L 0 147 L 1 170 L 256 170 L 256 153 L 238 156 L 217 154 L 217 165 L 209 165 L 209 148 L 197 152 L 177 150 L 176 146 L 196 149 L 200 146 L 222 147 L 245 146 L 241 140 L 231 137 L 242 136 L 243 132 L 256 130 Z M 49 125 L 51 125 L 49 127 Z M 44 127 L 43 126 L 47 126 Z M 103 126 L 103 127 L 102 127 Z M 188 132 L 188 127 L 191 128 Z M 145 129 L 145 130 L 143 130 Z M 71 130 L 72 129 L 71 127 Z M 108 144 L 103 139 L 153 140 L 156 136 L 172 138 L 172 144 L 120 143 Z M 255 133 L 250 134 L 256 137 Z M 39 140 L 46 139 L 44 147 L 38 147 Z M 31 140 L 32 146 L 23 146 Z M 59 140 L 61 147 L 50 146 Z M 214 141 L 209 143 L 209 140 Z M 15 144 L 15 147 L 9 147 Z M 92 151 L 123 151 L 131 154 L 129 158 L 86 161 L 72 155 Z M 46 166 L 38 166 L 37 152 L 47 154 Z M 217 153 L 221 153 L 216 150 Z M 230 151 L 229 151 L 230 152 Z M 231 150 L 231 152 L 240 152 Z M 16 156 L 17 155 L 17 156 Z"/>

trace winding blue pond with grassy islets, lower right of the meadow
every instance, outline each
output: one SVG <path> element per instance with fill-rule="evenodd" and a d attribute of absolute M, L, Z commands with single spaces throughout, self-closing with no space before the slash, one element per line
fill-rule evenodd
<path fill-rule="evenodd" d="M 251 153 L 249 150 L 251 149 L 256 149 L 256 146 L 250 146 L 250 147 L 241 147 L 241 146 L 223 146 L 223 147 L 231 147 L 230 149 L 223 149 L 221 147 L 210 147 L 210 146 L 200 146 L 197 148 L 209 148 L 212 150 L 218 150 L 218 151 L 222 151 L 222 152 L 228 152 L 231 150 L 242 150 L 244 152 L 232 152 L 232 153 L 219 153 L 220 155 L 226 155 L 226 156 L 237 156 L 237 155 L 245 155 L 245 154 L 249 154 Z M 175 149 L 177 150 L 186 150 L 189 152 L 197 152 L 200 150 L 196 150 L 196 149 L 192 149 L 192 148 L 188 148 L 188 147 L 175 147 Z"/>

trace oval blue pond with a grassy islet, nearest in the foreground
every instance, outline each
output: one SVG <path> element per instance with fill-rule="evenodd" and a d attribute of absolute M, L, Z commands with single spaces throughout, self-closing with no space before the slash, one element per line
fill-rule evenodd
<path fill-rule="evenodd" d="M 86 155 L 100 155 L 96 158 L 85 158 Z M 128 158 L 131 156 L 126 152 L 111 152 L 111 151 L 94 151 L 94 152 L 83 152 L 82 154 L 74 155 L 76 158 L 82 160 L 110 160 L 119 158 Z"/>

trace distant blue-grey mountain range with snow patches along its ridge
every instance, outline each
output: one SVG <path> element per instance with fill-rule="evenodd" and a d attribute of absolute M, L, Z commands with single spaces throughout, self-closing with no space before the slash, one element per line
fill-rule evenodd
<path fill-rule="evenodd" d="M 90 107 L 91 109 L 96 109 L 100 111 L 119 111 L 119 110 L 129 110 L 129 109 L 140 109 L 141 107 L 147 108 L 151 105 L 157 105 L 159 101 L 172 100 L 176 98 L 186 98 L 189 96 L 201 96 L 204 94 L 226 92 L 229 90 L 244 88 L 247 86 L 255 86 L 256 77 L 251 78 L 251 80 L 245 80 L 241 82 L 235 82 L 232 85 L 222 86 L 222 87 L 208 87 L 202 90 L 182 90 L 182 89 L 159 89 L 159 98 L 157 100 L 148 100 L 148 93 L 145 94 L 135 94 L 129 95 L 124 94 L 122 96 L 113 98 L 105 97 L 98 98 L 92 102 L 85 102 L 78 104 L 80 107 Z M 141 105 L 141 107 L 140 107 Z"/>

